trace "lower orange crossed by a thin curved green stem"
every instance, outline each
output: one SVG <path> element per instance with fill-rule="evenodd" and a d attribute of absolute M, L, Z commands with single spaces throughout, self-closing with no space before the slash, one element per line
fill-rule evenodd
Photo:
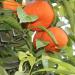
<path fill-rule="evenodd" d="M 40 32 L 38 32 L 39 36 L 37 33 L 34 36 L 34 41 L 33 44 L 34 46 L 36 46 L 36 39 L 41 39 L 43 41 L 47 41 L 49 42 L 49 44 L 47 46 L 45 46 L 45 50 L 49 51 L 49 52 L 58 52 L 60 50 L 60 48 L 64 47 L 67 45 L 68 43 L 68 36 L 67 34 L 58 27 L 51 27 L 48 30 L 50 30 L 53 35 L 55 36 L 58 45 L 55 44 L 55 42 L 52 40 L 52 38 L 48 35 L 47 32 L 42 32 L 42 34 Z M 39 38 L 38 38 L 39 37 Z"/>

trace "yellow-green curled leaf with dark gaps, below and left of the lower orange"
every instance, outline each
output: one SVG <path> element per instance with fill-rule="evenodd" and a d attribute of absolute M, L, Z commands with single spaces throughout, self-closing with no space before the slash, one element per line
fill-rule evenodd
<path fill-rule="evenodd" d="M 36 60 L 36 58 L 29 52 L 29 51 L 27 51 L 26 53 L 24 53 L 24 52 L 19 52 L 18 53 L 18 57 L 19 57 L 19 59 L 20 59 L 20 67 L 19 67 L 19 69 L 20 68 L 22 68 L 22 66 L 23 66 L 23 63 L 25 62 L 25 61 L 28 61 L 29 63 L 30 63 L 30 66 L 32 67 L 33 66 L 33 64 L 35 63 L 35 60 Z M 22 69 L 21 69 L 22 70 Z"/>

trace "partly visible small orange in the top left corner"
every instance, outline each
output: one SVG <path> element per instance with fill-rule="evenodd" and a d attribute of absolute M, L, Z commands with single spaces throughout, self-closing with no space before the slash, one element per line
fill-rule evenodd
<path fill-rule="evenodd" d="M 17 7 L 19 7 L 19 6 L 21 6 L 21 4 L 19 4 L 15 0 L 3 1 L 4 9 L 10 9 L 10 10 L 16 11 Z"/>

